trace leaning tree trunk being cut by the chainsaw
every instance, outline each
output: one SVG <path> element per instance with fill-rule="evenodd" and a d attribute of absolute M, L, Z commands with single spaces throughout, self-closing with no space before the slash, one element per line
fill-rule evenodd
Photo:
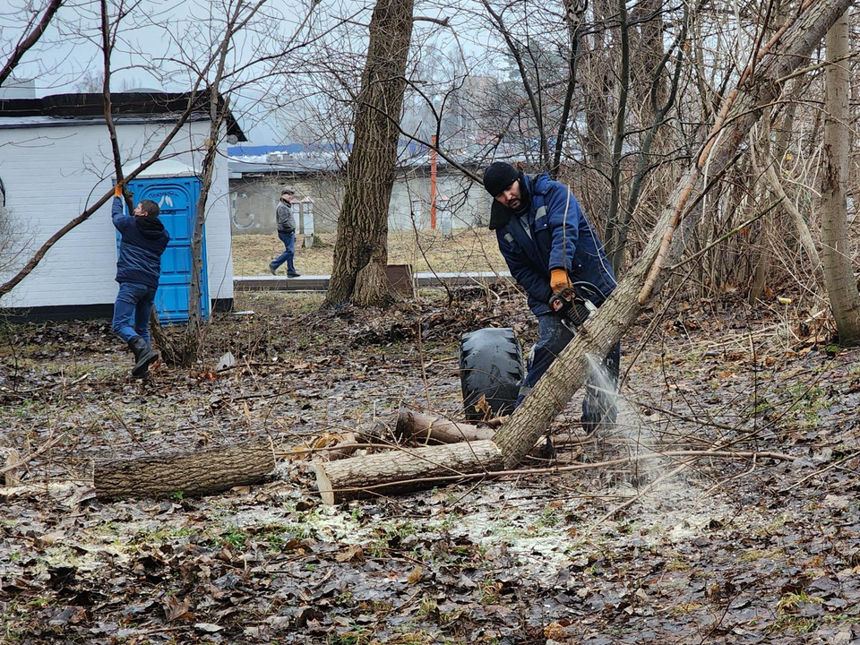
<path fill-rule="evenodd" d="M 587 379 L 587 355 L 592 354 L 596 359 L 606 356 L 641 313 L 642 305 L 648 302 L 661 268 L 669 259 L 680 256 L 682 245 L 671 245 L 672 233 L 705 168 L 709 176 L 719 174 L 761 115 L 761 108 L 777 98 L 779 80 L 804 64 L 849 4 L 850 0 L 809 3 L 788 30 L 778 32 L 781 38 L 762 48 L 763 56 L 755 62 L 754 75 L 750 68 L 744 72 L 738 86 L 728 94 L 695 166 L 675 187 L 640 260 L 495 434 L 495 443 L 504 454 L 505 467 L 519 462 L 538 437 L 546 433 L 550 422 Z M 700 209 L 692 209 L 689 216 L 696 218 L 700 212 Z"/>

